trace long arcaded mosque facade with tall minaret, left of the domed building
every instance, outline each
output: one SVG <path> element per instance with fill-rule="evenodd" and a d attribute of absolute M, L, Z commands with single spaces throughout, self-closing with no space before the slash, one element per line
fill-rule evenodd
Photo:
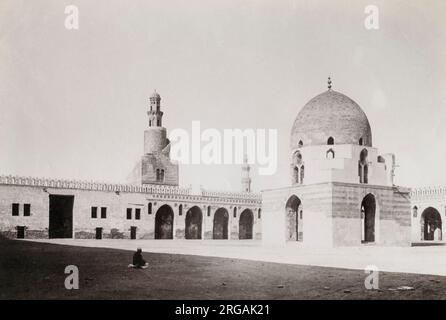
<path fill-rule="evenodd" d="M 261 196 L 250 192 L 249 166 L 240 192 L 180 187 L 156 92 L 147 115 L 130 184 L 0 176 L 0 237 L 261 239 Z"/>

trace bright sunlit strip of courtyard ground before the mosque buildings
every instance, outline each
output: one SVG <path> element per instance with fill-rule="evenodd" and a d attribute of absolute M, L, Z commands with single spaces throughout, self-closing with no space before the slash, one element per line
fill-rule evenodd
<path fill-rule="evenodd" d="M 446 246 L 305 248 L 291 242 L 284 247 L 262 246 L 260 241 L 228 240 L 35 240 L 71 246 L 113 248 L 144 252 L 247 259 L 284 264 L 446 276 Z"/>

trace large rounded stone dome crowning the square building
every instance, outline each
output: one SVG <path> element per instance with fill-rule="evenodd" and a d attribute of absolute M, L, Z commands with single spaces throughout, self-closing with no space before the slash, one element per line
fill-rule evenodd
<path fill-rule="evenodd" d="M 367 116 L 355 101 L 329 89 L 311 99 L 297 115 L 291 130 L 291 148 L 299 144 L 371 147 L 372 130 Z"/>

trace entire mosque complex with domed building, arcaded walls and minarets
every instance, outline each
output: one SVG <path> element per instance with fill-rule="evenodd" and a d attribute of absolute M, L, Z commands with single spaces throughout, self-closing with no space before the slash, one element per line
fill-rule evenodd
<path fill-rule="evenodd" d="M 378 152 L 366 114 L 333 90 L 330 78 L 292 126 L 290 181 L 260 194 L 251 192 L 247 163 L 240 192 L 180 187 L 156 92 L 147 115 L 131 184 L 0 176 L 0 237 L 253 239 L 310 247 L 442 242 L 446 188 L 396 186 L 395 155 Z"/>

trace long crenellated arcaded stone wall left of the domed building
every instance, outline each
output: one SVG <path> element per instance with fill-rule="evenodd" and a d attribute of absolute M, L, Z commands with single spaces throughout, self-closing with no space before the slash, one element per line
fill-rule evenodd
<path fill-rule="evenodd" d="M 43 181 L 39 180 L 39 181 Z M 36 182 L 36 181 L 34 181 Z M 13 185 L 16 183 L 20 185 Z M 258 209 L 261 207 L 260 196 L 250 194 L 243 196 L 233 194 L 233 198 L 218 192 L 203 190 L 202 194 L 192 195 L 188 189 L 167 186 L 146 187 L 113 187 L 102 185 L 102 190 L 92 190 L 96 184 L 45 183 L 45 185 L 63 185 L 65 188 L 42 187 L 39 184 L 29 185 L 27 178 L 0 177 L 0 235 L 7 238 L 17 236 L 16 227 L 25 226 L 26 238 L 47 238 L 49 228 L 49 195 L 72 195 L 73 205 L 73 237 L 92 239 L 96 237 L 96 228 L 102 228 L 102 238 L 128 239 L 131 227 L 136 227 L 137 239 L 154 239 L 155 216 L 163 205 L 169 205 L 174 212 L 174 238 L 184 239 L 185 218 L 187 211 L 197 206 L 202 212 L 202 239 L 212 239 L 213 218 L 218 208 L 225 208 L 229 213 L 228 236 L 238 239 L 238 223 L 240 213 L 250 209 L 254 216 L 253 236 L 261 238 L 261 224 Z M 72 186 L 73 188 L 68 188 Z M 79 187 L 79 188 L 76 188 Z M 85 188 L 80 188 L 85 187 Z M 109 191 L 111 189 L 112 191 Z M 114 190 L 113 190 L 114 189 Z M 118 191 L 129 190 L 129 191 Z M 131 190 L 131 191 L 130 191 Z M 146 192 L 144 192 L 146 191 Z M 152 193 L 150 191 L 157 191 Z M 208 195 L 205 195 L 208 194 Z M 211 196 L 212 194 L 212 196 Z M 12 203 L 20 204 L 20 215 L 12 216 Z M 31 205 L 31 215 L 23 216 L 23 204 Z M 152 205 L 149 213 L 149 203 Z M 179 206 L 183 206 L 182 215 Z M 207 207 L 210 206 L 210 215 Z M 97 218 L 92 218 L 92 207 L 97 207 Z M 101 218 L 101 208 L 106 208 L 106 218 Z M 237 216 L 233 217 L 233 208 L 237 207 Z M 127 209 L 132 209 L 131 219 L 127 219 Z M 140 210 L 140 219 L 136 219 L 136 209 Z"/>

